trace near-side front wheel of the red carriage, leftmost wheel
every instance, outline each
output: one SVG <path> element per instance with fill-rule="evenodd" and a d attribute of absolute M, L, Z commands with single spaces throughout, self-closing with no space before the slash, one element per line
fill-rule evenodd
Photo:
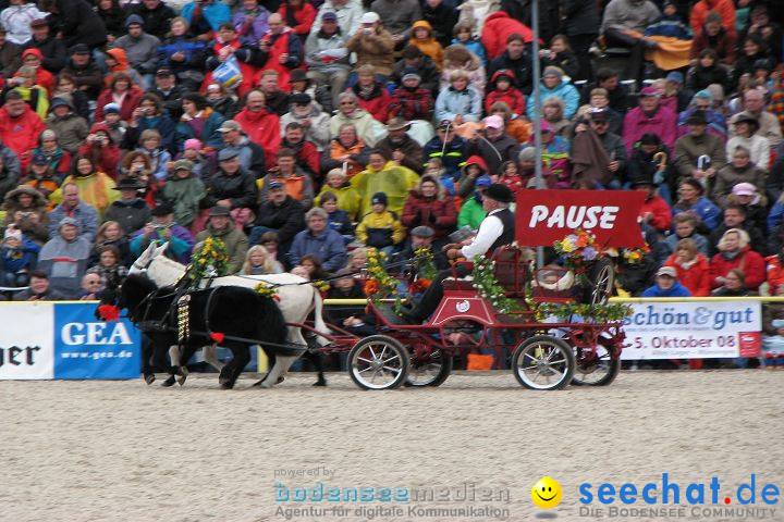
<path fill-rule="evenodd" d="M 363 389 L 396 388 L 408 372 L 408 351 L 397 339 L 371 335 L 348 352 L 348 374 Z"/>

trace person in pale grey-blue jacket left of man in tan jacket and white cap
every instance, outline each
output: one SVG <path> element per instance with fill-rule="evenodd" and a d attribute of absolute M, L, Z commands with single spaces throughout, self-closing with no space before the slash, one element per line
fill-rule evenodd
<path fill-rule="evenodd" d="M 351 0 L 352 7 L 345 12 L 352 12 L 356 8 L 355 0 Z M 353 33 L 346 33 L 340 27 L 339 15 L 334 11 L 324 11 L 327 4 L 321 5 L 319 16 L 316 18 L 319 24 L 314 24 L 314 29 L 305 41 L 305 63 L 307 63 L 307 77 L 316 85 L 329 85 L 332 92 L 332 107 L 338 107 L 338 95 L 343 92 L 351 65 L 348 64 L 348 48 L 346 42 Z M 359 13 L 362 15 L 362 13 Z M 358 23 L 359 16 L 356 17 Z"/>

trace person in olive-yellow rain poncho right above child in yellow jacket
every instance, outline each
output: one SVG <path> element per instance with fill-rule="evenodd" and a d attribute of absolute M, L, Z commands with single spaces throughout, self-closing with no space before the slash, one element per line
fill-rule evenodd
<path fill-rule="evenodd" d="M 351 184 L 362 197 L 360 215 L 373 210 L 371 200 L 378 192 L 383 192 L 384 209 L 400 215 L 408 190 L 414 188 L 418 181 L 419 176 L 414 171 L 395 164 L 382 151 L 373 150 L 370 152 L 367 170 L 354 176 Z"/>

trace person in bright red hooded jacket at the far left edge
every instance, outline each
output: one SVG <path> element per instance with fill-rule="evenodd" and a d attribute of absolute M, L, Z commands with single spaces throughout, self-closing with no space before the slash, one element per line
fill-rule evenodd
<path fill-rule="evenodd" d="M 3 144 L 20 159 L 26 171 L 33 159 L 32 150 L 38 145 L 40 133 L 46 130 L 41 119 L 25 102 L 16 90 L 5 95 L 5 103 L 0 109 L 0 136 Z"/>

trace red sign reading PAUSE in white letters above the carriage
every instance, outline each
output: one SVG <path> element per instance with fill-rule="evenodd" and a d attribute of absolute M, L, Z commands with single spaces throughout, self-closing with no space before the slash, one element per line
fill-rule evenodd
<path fill-rule="evenodd" d="M 517 243 L 552 246 L 576 228 L 590 231 L 607 247 L 641 247 L 637 225 L 646 192 L 640 190 L 520 190 L 517 192 Z"/>

